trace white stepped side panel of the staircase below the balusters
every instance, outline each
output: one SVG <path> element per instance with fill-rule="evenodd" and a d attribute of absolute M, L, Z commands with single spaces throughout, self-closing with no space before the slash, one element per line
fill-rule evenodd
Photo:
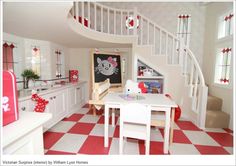
<path fill-rule="evenodd" d="M 152 46 L 134 46 L 134 56 L 164 76 L 164 93 L 170 94 L 180 106 L 183 119 L 191 120 L 197 125 L 198 115 L 192 111 L 190 88 L 185 84 L 185 76 L 179 65 L 169 65 L 166 56 L 152 55 Z M 137 68 L 135 66 L 134 68 Z"/>

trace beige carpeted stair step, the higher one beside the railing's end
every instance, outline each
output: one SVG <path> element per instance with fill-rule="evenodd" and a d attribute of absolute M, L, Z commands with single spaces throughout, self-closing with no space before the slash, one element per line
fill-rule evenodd
<path fill-rule="evenodd" d="M 209 95 L 207 98 L 207 110 L 221 111 L 222 103 L 221 98 Z"/>

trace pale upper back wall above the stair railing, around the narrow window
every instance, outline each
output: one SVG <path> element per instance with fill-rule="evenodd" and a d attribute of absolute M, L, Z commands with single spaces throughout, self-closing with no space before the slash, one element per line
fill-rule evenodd
<path fill-rule="evenodd" d="M 205 29 L 204 5 L 195 2 L 107 2 L 102 4 L 123 9 L 137 7 L 138 12 L 173 34 L 177 32 L 177 16 L 190 14 L 192 17 L 190 49 L 202 66 Z"/>

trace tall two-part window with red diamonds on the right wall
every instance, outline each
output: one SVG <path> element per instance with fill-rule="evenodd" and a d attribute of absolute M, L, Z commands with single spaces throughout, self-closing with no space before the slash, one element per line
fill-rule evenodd
<path fill-rule="evenodd" d="M 232 11 L 226 12 L 218 17 L 218 34 L 216 37 L 214 82 L 226 86 L 232 82 L 230 75 L 232 70 L 231 59 L 233 58 L 233 38 L 229 38 L 233 34 L 234 23 L 232 18 Z"/>

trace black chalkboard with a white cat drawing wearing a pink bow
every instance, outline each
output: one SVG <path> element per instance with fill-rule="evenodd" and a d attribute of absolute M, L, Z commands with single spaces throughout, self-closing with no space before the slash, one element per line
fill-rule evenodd
<path fill-rule="evenodd" d="M 120 55 L 94 53 L 92 60 L 95 83 L 109 78 L 113 85 L 122 84 Z"/>

